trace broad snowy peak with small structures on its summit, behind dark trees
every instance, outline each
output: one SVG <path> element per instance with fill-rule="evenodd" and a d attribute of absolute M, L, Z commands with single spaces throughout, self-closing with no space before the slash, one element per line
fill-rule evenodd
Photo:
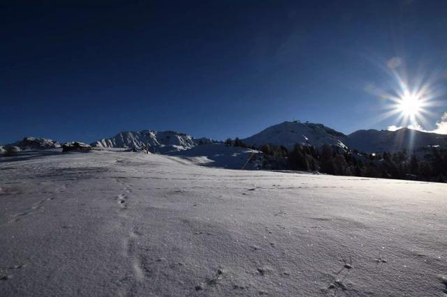
<path fill-rule="evenodd" d="M 346 135 L 337 132 L 325 125 L 318 123 L 288 122 L 272 125 L 271 127 L 242 139 L 248 145 L 261 146 L 262 144 L 274 144 L 292 148 L 295 144 L 321 146 L 330 144 L 345 148 L 341 139 Z"/>

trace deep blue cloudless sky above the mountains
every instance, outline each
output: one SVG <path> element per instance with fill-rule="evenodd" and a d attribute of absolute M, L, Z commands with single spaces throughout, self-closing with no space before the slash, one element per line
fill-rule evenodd
<path fill-rule="evenodd" d="M 366 90 L 393 85 L 388 59 L 446 83 L 447 1 L 9 2 L 3 144 L 142 129 L 225 139 L 292 119 L 382 129 L 397 123 L 376 120 L 384 102 Z"/>

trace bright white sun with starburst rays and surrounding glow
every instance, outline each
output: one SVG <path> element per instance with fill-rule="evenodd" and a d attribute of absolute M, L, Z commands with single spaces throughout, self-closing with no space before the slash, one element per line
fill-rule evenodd
<path fill-rule="evenodd" d="M 439 109 L 445 109 L 447 104 L 446 70 L 427 62 L 409 65 L 399 56 L 388 60 L 367 56 L 367 59 L 383 70 L 387 78 L 381 84 L 367 82 L 364 86 L 367 93 L 378 99 L 377 112 L 368 120 L 369 125 L 383 125 L 387 121 L 390 131 L 401 128 L 430 131 L 433 120 L 439 117 Z M 411 132 L 411 135 L 416 134 Z M 396 139 L 403 140 L 404 137 Z"/>

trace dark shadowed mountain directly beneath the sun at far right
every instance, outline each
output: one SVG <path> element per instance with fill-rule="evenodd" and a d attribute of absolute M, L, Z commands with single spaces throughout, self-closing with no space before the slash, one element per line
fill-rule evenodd
<path fill-rule="evenodd" d="M 427 146 L 447 147 L 447 135 L 421 132 L 409 128 L 396 131 L 358 130 L 341 140 L 349 148 L 356 148 L 367 153 L 413 151 Z"/>

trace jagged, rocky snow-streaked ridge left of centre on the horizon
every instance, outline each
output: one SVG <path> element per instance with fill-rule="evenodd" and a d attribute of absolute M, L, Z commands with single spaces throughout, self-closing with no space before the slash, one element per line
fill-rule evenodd
<path fill-rule="evenodd" d="M 108 139 L 101 139 L 92 143 L 92 146 L 103 148 L 142 148 L 149 144 L 152 153 L 167 153 L 170 151 L 183 151 L 198 144 L 211 144 L 216 141 L 210 138 L 194 139 L 191 135 L 175 131 L 157 132 L 153 130 L 121 132 Z"/>

